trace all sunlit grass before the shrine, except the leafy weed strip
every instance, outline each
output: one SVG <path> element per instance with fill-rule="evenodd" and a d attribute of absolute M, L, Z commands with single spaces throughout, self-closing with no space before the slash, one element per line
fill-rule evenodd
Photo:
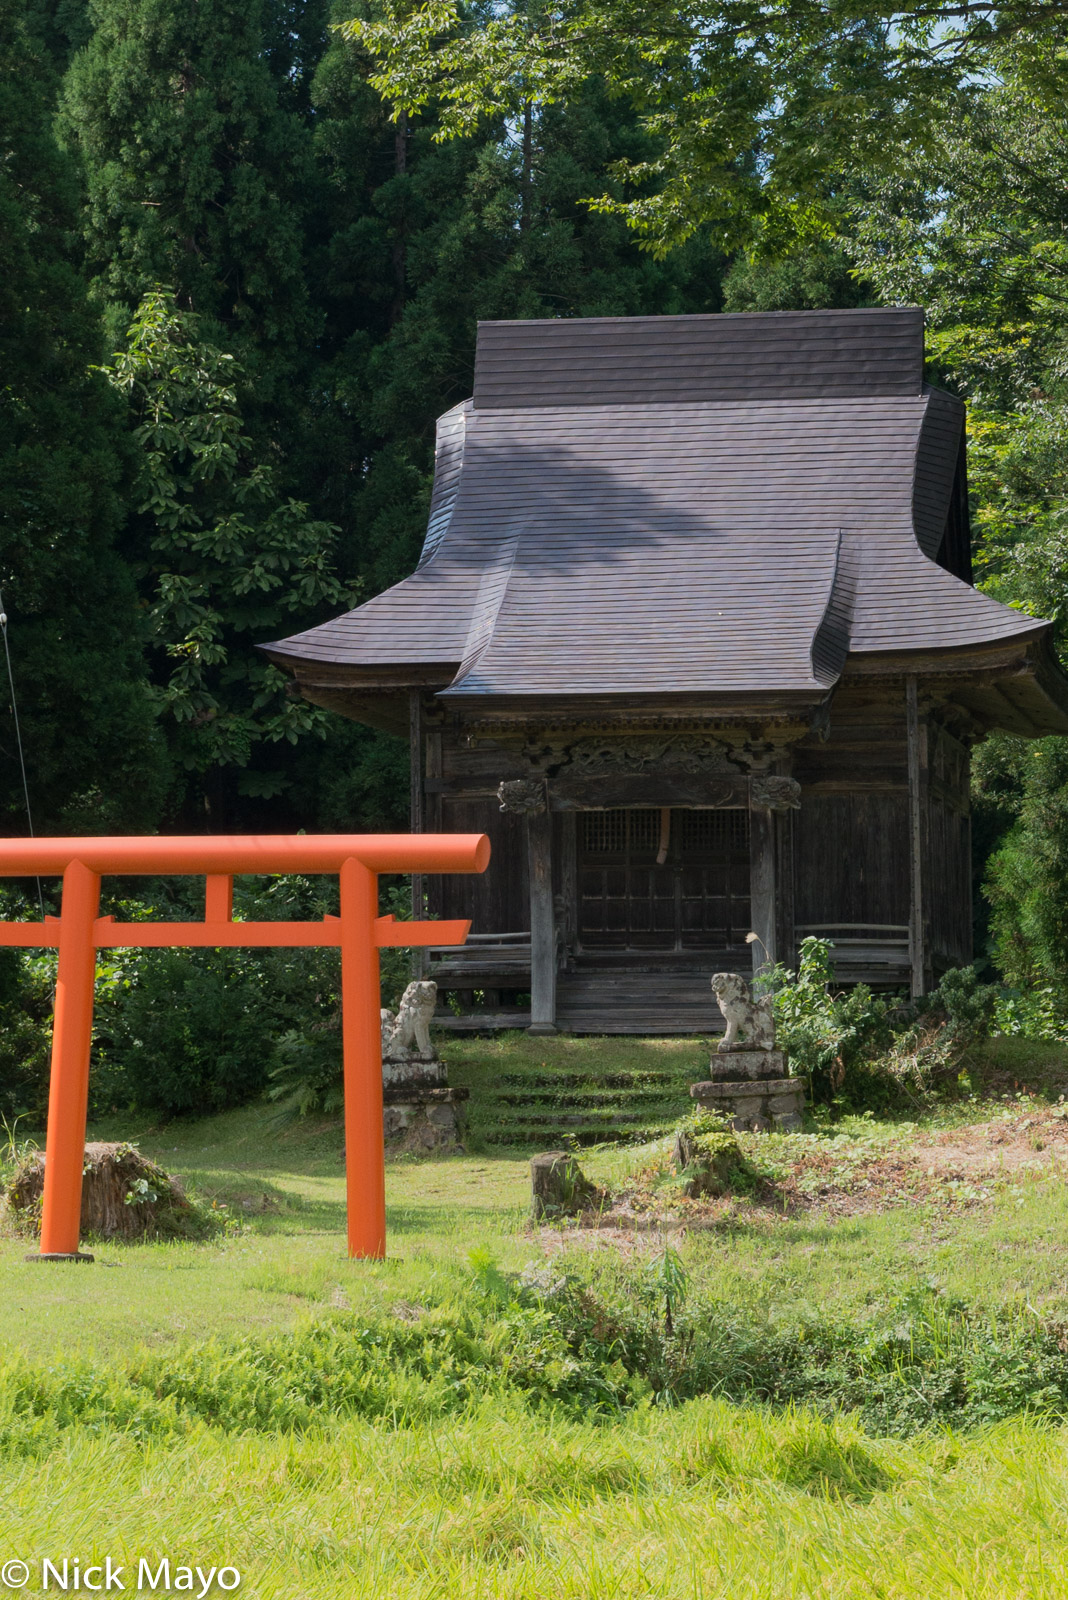
<path fill-rule="evenodd" d="M 539 1064 L 552 1048 L 537 1042 Z M 484 1070 L 473 1043 L 464 1059 L 456 1078 Z M 253 1107 L 96 1126 L 179 1173 L 227 1230 L 98 1245 L 91 1267 L 30 1266 L 26 1240 L 0 1232 L 0 1440 L 35 1392 L 27 1374 L 45 1374 L 43 1394 L 46 1374 L 74 1371 L 66 1392 L 88 1392 L 211 1339 L 225 1363 L 257 1339 L 299 1341 L 309 1320 L 347 1338 L 360 1318 L 456 1296 L 472 1250 L 502 1270 L 596 1258 L 625 1277 L 671 1243 L 694 1283 L 783 1322 L 863 1318 L 932 1280 L 991 1312 L 1068 1320 L 1068 1053 L 1004 1040 L 980 1066 L 982 1098 L 938 1115 L 751 1141 L 766 1192 L 700 1216 L 532 1232 L 529 1147 L 395 1160 L 384 1264 L 345 1258 L 336 1125 L 278 1134 Z M 1017 1091 L 1033 1083 L 1038 1098 Z M 612 1189 L 641 1160 L 582 1155 Z M 235 1566 L 241 1594 L 278 1600 L 1068 1595 L 1068 1429 L 1026 1418 L 902 1440 L 806 1408 L 707 1397 L 596 1419 L 504 1392 L 301 1429 L 201 1418 L 163 1435 L 99 1414 L 0 1450 L 0 1563 L 110 1555 L 133 1592 L 141 1557 L 169 1557 Z M 40 1589 L 34 1571 L 26 1594 Z"/>

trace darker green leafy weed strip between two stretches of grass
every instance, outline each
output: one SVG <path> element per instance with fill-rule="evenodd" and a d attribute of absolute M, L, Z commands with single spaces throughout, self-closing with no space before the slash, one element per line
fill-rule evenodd
<path fill-rule="evenodd" d="M 1065 1328 L 1023 1310 L 978 1315 L 932 1290 L 863 1323 L 783 1328 L 691 1294 L 670 1251 L 612 1283 L 571 1267 L 504 1274 L 480 1258 L 451 1302 L 403 1310 L 331 1312 L 293 1336 L 145 1352 L 125 1370 L 14 1363 L 0 1384 L 0 1445 L 35 1454 L 74 1424 L 136 1438 L 198 1426 L 301 1432 L 341 1418 L 416 1426 L 488 1402 L 608 1419 L 700 1395 L 852 1411 L 868 1432 L 900 1437 L 1068 1416 Z M 798 1446 L 791 1483 L 878 1488 L 859 1456 L 833 1458 L 820 1438 Z"/>

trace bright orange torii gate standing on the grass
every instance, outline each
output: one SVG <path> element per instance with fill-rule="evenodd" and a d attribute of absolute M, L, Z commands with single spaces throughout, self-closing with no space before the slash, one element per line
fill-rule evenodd
<path fill-rule="evenodd" d="M 470 922 L 379 917 L 379 872 L 484 872 L 484 834 L 265 834 L 206 838 L 3 838 L 0 877 L 62 874 L 59 917 L 0 922 L 0 946 L 58 946 L 40 1254 L 78 1254 L 98 949 L 165 946 L 339 946 L 345 1072 L 349 1254 L 385 1254 L 379 949 L 464 944 Z M 323 922 L 233 922 L 233 875 L 336 872 L 341 915 Z M 206 878 L 203 922 L 115 922 L 99 915 L 101 877 Z"/>

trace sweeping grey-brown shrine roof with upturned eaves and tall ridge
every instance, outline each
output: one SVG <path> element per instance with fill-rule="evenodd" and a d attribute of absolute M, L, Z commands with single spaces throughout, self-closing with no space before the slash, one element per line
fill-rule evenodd
<path fill-rule="evenodd" d="M 913 309 L 483 323 L 417 570 L 265 650 L 452 702 L 819 698 L 851 656 L 1036 637 L 946 570 L 962 435 Z"/>

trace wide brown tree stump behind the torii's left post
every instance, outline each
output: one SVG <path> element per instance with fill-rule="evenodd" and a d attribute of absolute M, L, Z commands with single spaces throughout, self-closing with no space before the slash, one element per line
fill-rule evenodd
<path fill-rule="evenodd" d="M 203 1232 L 182 1186 L 133 1144 L 86 1144 L 82 1178 L 82 1237 L 160 1238 Z M 45 1152 L 34 1150 L 11 1179 L 8 1205 L 40 1234 Z"/>

